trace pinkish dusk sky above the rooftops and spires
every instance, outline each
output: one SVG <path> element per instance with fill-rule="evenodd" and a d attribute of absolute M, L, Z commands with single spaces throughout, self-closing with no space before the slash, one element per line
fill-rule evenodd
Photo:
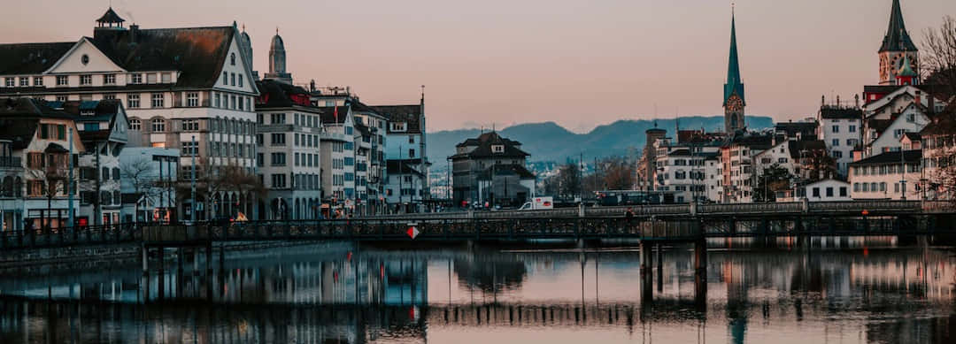
<path fill-rule="evenodd" d="M 0 42 L 92 35 L 110 0 L 5 6 Z M 278 28 L 294 82 L 350 86 L 368 104 L 417 103 L 428 130 L 722 115 L 730 2 L 718 0 L 112 0 L 142 29 L 230 25 L 268 71 Z M 891 0 L 737 0 L 747 114 L 815 116 L 820 96 L 878 81 Z M 52 11 L 54 10 L 55 11 Z M 917 42 L 956 1 L 902 0 Z"/>

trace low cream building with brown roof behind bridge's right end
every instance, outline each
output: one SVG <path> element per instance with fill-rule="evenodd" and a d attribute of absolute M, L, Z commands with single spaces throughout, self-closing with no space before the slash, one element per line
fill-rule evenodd
<path fill-rule="evenodd" d="M 919 200 L 923 151 L 880 153 L 850 163 L 854 200 Z"/>

